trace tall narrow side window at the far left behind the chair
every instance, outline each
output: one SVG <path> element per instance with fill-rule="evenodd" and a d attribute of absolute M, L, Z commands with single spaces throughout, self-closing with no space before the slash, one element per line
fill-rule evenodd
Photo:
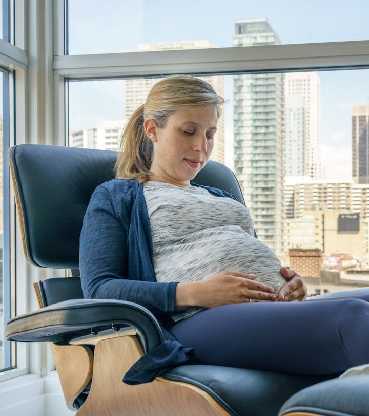
<path fill-rule="evenodd" d="M 10 186 L 8 148 L 14 144 L 14 130 L 17 126 L 21 141 L 25 140 L 25 71 L 28 67 L 24 46 L 24 27 L 17 29 L 17 45 L 14 41 L 14 8 L 20 21 L 24 18 L 24 3 L 11 0 L 0 2 L 0 380 L 26 372 L 26 347 L 17 351 L 15 343 L 6 341 L 5 326 L 7 320 L 16 313 L 26 312 L 25 282 L 27 276 L 19 279 L 20 291 L 16 289 L 16 231 L 14 199 Z M 19 23 L 20 23 L 19 21 Z M 17 97 L 17 100 L 15 100 Z M 15 117 L 16 110 L 18 116 Z M 20 267 L 22 269 L 22 267 Z M 23 271 L 23 270 L 22 270 Z M 17 307 L 17 310 L 16 310 Z M 17 355 L 18 353 L 18 355 Z M 22 356 L 19 354 L 21 353 Z M 18 360 L 18 357 L 19 360 Z M 15 368 L 23 367 L 22 370 Z M 10 372 L 6 371 L 14 369 Z"/>

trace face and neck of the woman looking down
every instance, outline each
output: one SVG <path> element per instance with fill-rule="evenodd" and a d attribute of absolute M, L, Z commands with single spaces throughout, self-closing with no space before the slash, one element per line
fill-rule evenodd
<path fill-rule="evenodd" d="M 145 120 L 146 134 L 154 148 L 149 179 L 189 186 L 209 159 L 217 122 L 213 105 L 184 107 L 172 114 L 163 128 L 152 119 Z"/>

